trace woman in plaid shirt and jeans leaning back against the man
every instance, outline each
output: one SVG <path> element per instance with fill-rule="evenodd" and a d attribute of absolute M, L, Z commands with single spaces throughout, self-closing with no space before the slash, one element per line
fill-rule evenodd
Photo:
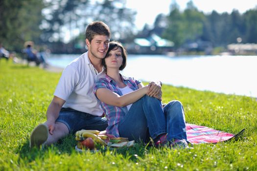
<path fill-rule="evenodd" d="M 161 97 L 147 95 L 151 85 L 121 75 L 126 59 L 122 44 L 111 42 L 103 60 L 106 74 L 94 84 L 108 120 L 107 133 L 145 141 L 149 131 L 156 145 L 188 148 L 182 104 L 171 101 L 163 108 Z"/>

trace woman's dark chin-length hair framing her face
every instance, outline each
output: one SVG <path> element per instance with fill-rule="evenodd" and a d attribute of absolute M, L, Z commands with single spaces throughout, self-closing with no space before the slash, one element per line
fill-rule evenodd
<path fill-rule="evenodd" d="M 123 47 L 123 45 L 121 44 L 121 43 L 119 43 L 119 42 L 117 42 L 117 41 L 112 41 L 112 42 L 110 42 L 110 44 L 109 44 L 109 49 L 108 49 L 108 51 L 107 51 L 107 53 L 106 53 L 106 56 L 105 56 L 105 58 L 107 57 L 107 55 L 109 54 L 109 52 L 111 51 L 111 50 L 113 50 L 113 49 L 117 49 L 118 47 L 120 47 L 121 48 L 121 56 L 122 56 L 122 64 L 121 64 L 121 66 L 119 67 L 119 70 L 120 71 L 122 71 L 125 67 L 126 67 L 126 64 L 127 64 L 127 51 L 126 51 L 126 49 Z M 103 64 L 103 66 L 105 67 L 105 69 L 106 69 L 106 63 L 105 63 L 105 60 L 103 59 L 103 61 L 102 61 L 102 64 Z"/>

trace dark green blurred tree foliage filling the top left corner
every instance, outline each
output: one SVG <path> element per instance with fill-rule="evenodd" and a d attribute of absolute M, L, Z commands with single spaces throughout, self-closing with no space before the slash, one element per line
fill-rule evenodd
<path fill-rule="evenodd" d="M 0 41 L 6 49 L 20 52 L 25 41 L 39 40 L 43 8 L 42 0 L 0 0 Z"/>

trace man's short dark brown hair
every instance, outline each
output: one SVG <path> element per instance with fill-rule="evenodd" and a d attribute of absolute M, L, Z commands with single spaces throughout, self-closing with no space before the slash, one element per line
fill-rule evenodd
<path fill-rule="evenodd" d="M 95 35 L 103 35 L 103 36 L 108 36 L 110 38 L 111 37 L 110 28 L 103 21 L 93 21 L 88 25 L 86 29 L 86 39 L 88 39 L 89 42 L 91 43 Z"/>

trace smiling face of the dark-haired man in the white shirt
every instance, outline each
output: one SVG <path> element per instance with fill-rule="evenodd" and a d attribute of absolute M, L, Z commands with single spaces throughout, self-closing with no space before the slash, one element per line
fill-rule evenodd
<path fill-rule="evenodd" d="M 93 58 L 104 59 L 109 48 L 110 38 L 108 36 L 95 35 L 91 43 L 88 39 L 86 39 L 86 43 L 89 54 L 91 54 Z"/>

